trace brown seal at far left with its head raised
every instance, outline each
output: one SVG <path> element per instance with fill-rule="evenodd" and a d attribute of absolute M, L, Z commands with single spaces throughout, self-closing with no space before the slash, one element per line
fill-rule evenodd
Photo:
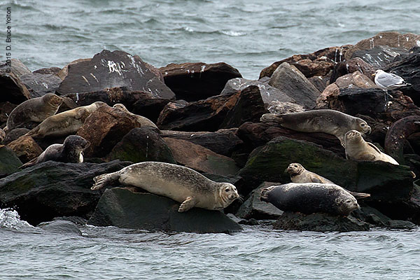
<path fill-rule="evenodd" d="M 63 99 L 53 93 L 47 93 L 42 97 L 28 99 L 19 104 L 6 123 L 6 130 L 13 130 L 17 127 L 33 128 L 34 123 L 41 123 L 45 118 L 54 116 Z"/>

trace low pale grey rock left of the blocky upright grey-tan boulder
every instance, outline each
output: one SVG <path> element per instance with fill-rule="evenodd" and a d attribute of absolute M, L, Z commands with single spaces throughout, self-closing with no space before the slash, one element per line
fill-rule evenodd
<path fill-rule="evenodd" d="M 260 94 L 262 97 L 262 102 L 264 102 L 267 107 L 271 102 L 291 102 L 295 103 L 295 99 L 288 97 L 288 95 L 276 87 L 272 87 L 267 83 L 262 83 L 259 80 L 246 80 L 244 78 L 233 78 L 228 80 L 221 94 L 232 95 L 237 92 L 244 90 L 250 85 L 258 86 Z"/>

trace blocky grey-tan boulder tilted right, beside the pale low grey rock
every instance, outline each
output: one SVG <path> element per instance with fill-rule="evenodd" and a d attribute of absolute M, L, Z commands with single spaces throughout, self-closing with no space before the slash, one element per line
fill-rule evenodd
<path fill-rule="evenodd" d="M 274 71 L 269 85 L 278 88 L 306 109 L 316 106 L 319 90 L 295 66 L 284 62 Z"/>

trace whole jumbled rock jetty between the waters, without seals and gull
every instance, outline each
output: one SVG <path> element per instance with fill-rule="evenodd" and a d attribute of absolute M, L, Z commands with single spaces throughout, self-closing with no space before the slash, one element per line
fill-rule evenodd
<path fill-rule="evenodd" d="M 386 95 L 372 80 L 377 69 L 411 85 Z M 169 232 L 232 232 L 241 230 L 239 223 L 267 220 L 276 220 L 273 228 L 281 230 L 420 225 L 420 183 L 411 175 L 420 174 L 419 35 L 383 32 L 355 45 L 293 55 L 262 69 L 259 80 L 241 78 L 223 62 L 157 69 L 137 55 L 103 50 L 62 69 L 34 72 L 12 59 L 11 65 L 0 65 L 0 85 L 0 127 L 16 106 L 48 93 L 63 99 L 57 113 L 93 102 L 109 105 L 87 116 L 75 133 L 90 141 L 83 163 L 48 161 L 20 169 L 66 136 L 25 135 L 33 126 L 0 133 L 0 207 L 16 209 L 31 225 L 57 217 Z M 115 104 L 129 112 L 113 108 Z M 372 127 L 367 141 L 400 165 L 346 160 L 344 148 L 330 134 L 260 123 L 264 113 L 313 109 L 363 118 Z M 158 128 L 141 125 L 133 113 Z M 176 163 L 233 183 L 244 200 L 225 209 L 230 219 L 198 208 L 178 213 L 177 202 L 135 188 L 90 190 L 94 176 L 144 161 Z M 283 171 L 291 162 L 371 197 L 360 200 L 361 209 L 348 217 L 283 213 L 260 202 L 258 190 L 290 182 Z"/>

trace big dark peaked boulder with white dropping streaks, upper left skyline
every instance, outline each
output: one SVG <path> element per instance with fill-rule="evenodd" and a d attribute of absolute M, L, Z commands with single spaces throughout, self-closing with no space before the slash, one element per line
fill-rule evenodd
<path fill-rule="evenodd" d="M 90 60 L 69 64 L 69 72 L 57 92 L 65 95 L 125 86 L 129 90 L 150 92 L 154 97 L 173 99 L 174 92 L 149 67 L 137 55 L 102 50 Z"/>

